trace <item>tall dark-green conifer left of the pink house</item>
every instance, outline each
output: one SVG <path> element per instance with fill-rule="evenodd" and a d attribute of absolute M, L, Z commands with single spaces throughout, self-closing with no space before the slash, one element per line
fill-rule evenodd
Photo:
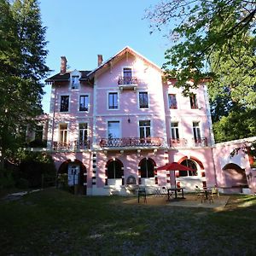
<path fill-rule="evenodd" d="M 0 150 L 4 157 L 16 146 L 24 127 L 42 113 L 45 27 L 37 0 L 0 0 Z M 3 44 L 2 44 L 3 43 Z"/>

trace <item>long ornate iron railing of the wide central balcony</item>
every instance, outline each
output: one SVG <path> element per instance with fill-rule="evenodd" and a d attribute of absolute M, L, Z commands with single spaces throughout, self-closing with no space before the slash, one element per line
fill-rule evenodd
<path fill-rule="evenodd" d="M 162 144 L 163 140 L 160 137 L 102 138 L 100 142 L 102 148 L 160 147 Z"/>

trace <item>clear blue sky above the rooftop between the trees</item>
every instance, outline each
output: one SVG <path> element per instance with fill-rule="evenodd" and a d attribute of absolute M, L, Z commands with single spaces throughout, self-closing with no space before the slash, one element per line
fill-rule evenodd
<path fill-rule="evenodd" d="M 46 65 L 60 72 L 61 56 L 67 57 L 70 70 L 93 70 L 97 55 L 103 61 L 130 46 L 149 61 L 162 66 L 170 42 L 163 33 L 150 34 L 145 9 L 160 0 L 41 0 L 41 18 L 47 27 L 49 50 Z M 45 85 L 45 113 L 49 113 L 50 85 Z"/>

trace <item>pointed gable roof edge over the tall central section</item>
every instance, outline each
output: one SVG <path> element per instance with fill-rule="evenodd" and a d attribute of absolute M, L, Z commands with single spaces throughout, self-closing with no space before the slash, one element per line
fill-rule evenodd
<path fill-rule="evenodd" d="M 148 64 L 152 65 L 153 67 L 157 68 L 160 70 L 160 72 L 162 72 L 162 70 L 160 69 L 160 67 L 158 67 L 156 64 L 154 64 L 152 61 L 149 61 L 147 58 L 145 58 L 143 55 L 137 53 L 136 50 L 131 49 L 131 47 L 126 46 L 124 49 L 121 49 L 116 55 L 113 55 L 113 57 L 109 58 L 107 61 L 104 61 L 102 63 L 102 65 L 100 65 L 99 67 L 96 67 L 94 70 L 92 70 L 90 73 L 88 73 L 88 77 L 93 76 L 93 74 L 96 73 L 96 71 L 98 71 L 99 69 L 102 69 L 104 67 L 108 67 L 108 63 L 110 61 L 113 61 L 114 59 L 119 58 L 121 55 L 124 55 L 126 52 L 131 53 L 132 55 L 137 55 L 139 58 L 143 59 L 143 61 L 148 62 Z"/>

